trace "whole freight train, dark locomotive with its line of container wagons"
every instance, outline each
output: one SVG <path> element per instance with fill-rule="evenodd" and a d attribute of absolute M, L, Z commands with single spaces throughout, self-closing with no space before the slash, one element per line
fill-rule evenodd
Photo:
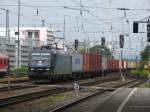
<path fill-rule="evenodd" d="M 95 77 L 108 72 L 135 69 L 131 61 L 114 60 L 96 53 L 68 54 L 50 46 L 34 48 L 29 56 L 28 76 L 32 80 L 66 80 Z M 130 65 L 130 66 L 128 66 Z"/>

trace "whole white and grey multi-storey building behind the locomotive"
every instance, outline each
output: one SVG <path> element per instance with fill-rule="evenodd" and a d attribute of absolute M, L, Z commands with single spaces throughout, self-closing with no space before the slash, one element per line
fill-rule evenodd
<path fill-rule="evenodd" d="M 6 38 L 6 28 L 0 27 L 0 53 L 10 58 L 10 66 L 17 67 L 18 62 L 18 28 L 10 28 L 10 39 Z M 10 41 L 9 41 L 10 40 Z M 54 42 L 53 30 L 48 27 L 20 27 L 19 63 L 28 65 L 28 55 L 32 47 L 52 44 Z"/>

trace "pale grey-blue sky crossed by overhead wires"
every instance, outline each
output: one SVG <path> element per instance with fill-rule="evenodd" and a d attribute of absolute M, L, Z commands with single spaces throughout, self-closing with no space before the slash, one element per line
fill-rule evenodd
<path fill-rule="evenodd" d="M 10 25 L 17 26 L 18 0 L 0 0 L 0 8 L 10 10 Z M 66 41 L 88 39 L 99 44 L 101 37 L 105 37 L 107 45 L 111 43 L 115 48 L 114 54 L 119 56 L 119 35 L 125 36 L 124 56 L 135 58 L 144 48 L 146 33 L 133 34 L 133 21 L 146 20 L 150 15 L 149 0 L 81 0 L 83 14 L 80 14 L 80 0 L 20 0 L 21 26 L 40 26 L 42 20 L 45 25 L 52 27 L 56 36 L 62 37 L 65 17 Z M 67 8 L 64 8 L 67 7 Z M 124 11 L 118 8 L 128 8 L 126 17 Z M 38 10 L 38 15 L 37 15 Z M 128 21 L 128 22 L 127 22 Z M 0 26 L 5 26 L 5 12 L 0 10 Z M 139 24 L 139 31 L 146 32 L 146 24 Z M 143 43 L 142 43 L 143 40 Z M 143 46 L 142 46 L 143 45 Z"/>

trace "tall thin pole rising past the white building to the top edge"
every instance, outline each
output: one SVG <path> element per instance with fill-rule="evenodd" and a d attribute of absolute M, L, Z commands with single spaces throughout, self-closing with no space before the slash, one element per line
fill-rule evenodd
<path fill-rule="evenodd" d="M 18 60 L 17 68 L 20 67 L 20 0 L 18 0 Z"/>

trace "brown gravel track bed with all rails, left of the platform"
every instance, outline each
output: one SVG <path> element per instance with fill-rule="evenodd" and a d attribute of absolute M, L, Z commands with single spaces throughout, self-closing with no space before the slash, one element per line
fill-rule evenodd
<path fill-rule="evenodd" d="M 120 83 L 119 75 L 110 74 L 104 78 L 80 80 L 80 90 L 77 93 L 72 82 L 40 85 L 30 82 L 13 83 L 11 93 L 8 93 L 7 85 L 3 84 L 0 88 L 0 108 L 2 112 L 9 112 L 12 109 L 14 112 L 18 112 L 23 108 L 25 112 L 30 112 L 30 109 L 34 111 L 64 111 L 72 105 L 77 105 L 78 102 L 84 102 L 97 95 L 107 95 L 117 88 L 135 87 L 144 82 L 145 80 L 129 78 Z M 28 105 L 29 108 L 25 105 Z"/>

